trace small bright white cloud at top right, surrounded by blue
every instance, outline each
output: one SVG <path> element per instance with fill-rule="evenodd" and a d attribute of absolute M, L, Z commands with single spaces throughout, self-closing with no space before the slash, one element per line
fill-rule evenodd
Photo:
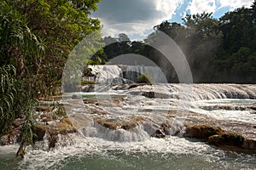
<path fill-rule="evenodd" d="M 216 8 L 215 0 L 192 0 L 187 10 L 190 14 L 201 14 L 203 12 L 213 13 Z"/>

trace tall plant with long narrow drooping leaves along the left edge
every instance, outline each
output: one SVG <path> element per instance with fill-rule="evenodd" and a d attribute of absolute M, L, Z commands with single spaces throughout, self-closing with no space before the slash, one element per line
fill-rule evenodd
<path fill-rule="evenodd" d="M 20 115 L 25 115 L 20 149 L 32 144 L 32 62 L 37 62 L 44 44 L 26 24 L 26 15 L 20 14 L 9 3 L 0 2 L 0 136 L 9 133 L 9 127 Z M 27 79 L 24 79 L 26 77 Z"/>

